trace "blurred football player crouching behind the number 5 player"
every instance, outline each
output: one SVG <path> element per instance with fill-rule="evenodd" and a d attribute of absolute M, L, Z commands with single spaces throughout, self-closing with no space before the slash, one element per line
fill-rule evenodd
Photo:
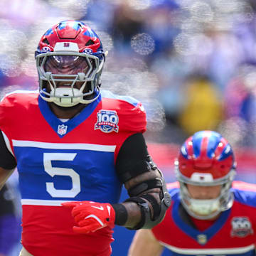
<path fill-rule="evenodd" d="M 255 255 L 256 185 L 233 181 L 235 158 L 217 132 L 186 139 L 175 161 L 178 182 L 164 220 L 139 230 L 129 256 Z"/>

